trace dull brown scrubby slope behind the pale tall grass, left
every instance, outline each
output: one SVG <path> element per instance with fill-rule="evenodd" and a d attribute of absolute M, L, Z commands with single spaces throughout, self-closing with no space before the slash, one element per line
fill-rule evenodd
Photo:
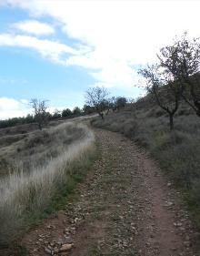
<path fill-rule="evenodd" d="M 44 166 L 49 159 L 56 158 L 63 148 L 83 135 L 81 128 L 74 128 L 70 123 L 67 122 L 67 129 L 62 129 L 62 123 L 58 126 L 53 123 L 54 126 L 45 128 L 42 132 L 35 129 L 25 134 L 21 134 L 25 131 L 24 127 L 12 128 L 10 135 L 7 135 L 4 129 L 1 130 L 0 176 L 6 176 L 15 166 L 28 171 Z"/>

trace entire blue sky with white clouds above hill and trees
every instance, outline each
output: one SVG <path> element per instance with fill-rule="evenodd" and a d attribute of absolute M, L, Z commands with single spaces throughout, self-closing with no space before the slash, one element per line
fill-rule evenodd
<path fill-rule="evenodd" d="M 198 0 L 0 0 L 0 119 L 83 107 L 89 87 L 139 97 L 137 70 L 185 31 L 200 36 Z"/>

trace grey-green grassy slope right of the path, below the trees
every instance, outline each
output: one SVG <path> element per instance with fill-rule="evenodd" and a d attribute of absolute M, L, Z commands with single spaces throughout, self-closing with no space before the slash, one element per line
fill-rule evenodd
<path fill-rule="evenodd" d="M 200 119 L 181 109 L 170 132 L 168 118 L 159 108 L 124 109 L 95 118 L 93 125 L 123 133 L 142 145 L 158 160 L 160 167 L 181 189 L 189 210 L 200 229 Z"/>

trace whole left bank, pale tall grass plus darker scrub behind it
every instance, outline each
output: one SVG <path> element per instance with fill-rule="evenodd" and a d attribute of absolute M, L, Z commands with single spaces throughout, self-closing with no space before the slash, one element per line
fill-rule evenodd
<path fill-rule="evenodd" d="M 85 125 L 68 122 L 0 139 L 5 156 L 1 162 L 10 170 L 0 179 L 3 246 L 17 241 L 36 220 L 59 208 L 91 165 L 95 138 Z"/>

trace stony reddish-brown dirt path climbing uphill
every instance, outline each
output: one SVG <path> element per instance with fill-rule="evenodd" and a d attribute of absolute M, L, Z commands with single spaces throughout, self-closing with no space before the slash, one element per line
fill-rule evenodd
<path fill-rule="evenodd" d="M 57 255 L 64 243 L 58 255 L 197 256 L 197 234 L 155 162 L 119 134 L 96 137 L 102 158 L 74 201 L 25 237 L 29 255 Z"/>

